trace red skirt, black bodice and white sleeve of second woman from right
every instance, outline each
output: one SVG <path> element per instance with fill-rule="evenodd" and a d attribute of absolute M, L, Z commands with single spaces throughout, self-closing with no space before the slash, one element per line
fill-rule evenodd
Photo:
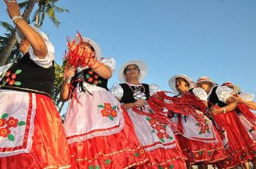
<path fill-rule="evenodd" d="M 223 107 L 227 105 L 227 98 L 233 96 L 233 90 L 226 86 L 214 87 L 208 95 L 211 105 Z M 238 104 L 238 108 L 244 108 L 244 106 Z M 249 132 L 249 121 L 241 111 L 236 109 L 222 114 L 214 114 L 214 121 L 219 127 L 228 154 L 227 159 L 219 162 L 221 168 L 234 168 L 255 157 L 255 131 Z"/>

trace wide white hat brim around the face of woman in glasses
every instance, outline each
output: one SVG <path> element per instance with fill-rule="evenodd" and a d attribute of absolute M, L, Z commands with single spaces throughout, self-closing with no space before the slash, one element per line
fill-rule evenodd
<path fill-rule="evenodd" d="M 143 61 L 141 60 L 131 60 L 127 63 L 124 63 L 124 65 L 122 65 L 118 70 L 119 81 L 122 83 L 127 82 L 127 79 L 124 76 L 124 69 L 129 65 L 138 66 L 138 68 L 140 69 L 139 81 L 142 82 L 148 72 L 148 66 L 146 66 L 146 63 L 143 63 Z"/>

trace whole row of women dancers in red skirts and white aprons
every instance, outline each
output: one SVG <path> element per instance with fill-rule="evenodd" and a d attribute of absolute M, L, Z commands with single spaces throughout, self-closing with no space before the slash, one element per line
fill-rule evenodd
<path fill-rule="evenodd" d="M 51 101 L 54 47 L 4 0 L 23 58 L 0 67 L 0 168 L 249 168 L 256 156 L 252 94 L 207 76 L 170 77 L 171 92 L 145 84 L 147 66 L 116 69 L 93 40 L 68 42 L 60 91 L 64 123 Z M 256 162 L 255 162 L 256 163 Z"/>

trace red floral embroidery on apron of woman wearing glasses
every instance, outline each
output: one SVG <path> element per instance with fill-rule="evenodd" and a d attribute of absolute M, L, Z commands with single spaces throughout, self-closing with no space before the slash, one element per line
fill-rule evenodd
<path fill-rule="evenodd" d="M 165 138 L 173 140 L 173 137 L 170 137 L 170 135 L 167 134 L 167 125 L 162 125 L 156 119 L 151 119 L 150 117 L 146 117 L 146 120 L 153 128 L 151 132 L 156 133 L 157 137 L 159 138 L 160 141 L 162 141 L 162 143 L 165 143 Z"/>

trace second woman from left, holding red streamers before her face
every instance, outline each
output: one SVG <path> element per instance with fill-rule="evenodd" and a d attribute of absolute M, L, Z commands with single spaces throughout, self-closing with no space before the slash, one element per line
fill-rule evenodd
<path fill-rule="evenodd" d="M 69 100 L 64 130 L 72 153 L 72 166 L 129 168 L 143 165 L 147 161 L 146 153 L 135 136 L 132 122 L 108 92 L 108 79 L 116 68 L 116 61 L 102 58 L 98 44 L 89 38 L 78 36 L 74 45 L 69 53 L 78 50 L 89 58 L 86 58 L 87 65 L 76 70 L 68 68 L 61 88 L 61 100 Z"/>

